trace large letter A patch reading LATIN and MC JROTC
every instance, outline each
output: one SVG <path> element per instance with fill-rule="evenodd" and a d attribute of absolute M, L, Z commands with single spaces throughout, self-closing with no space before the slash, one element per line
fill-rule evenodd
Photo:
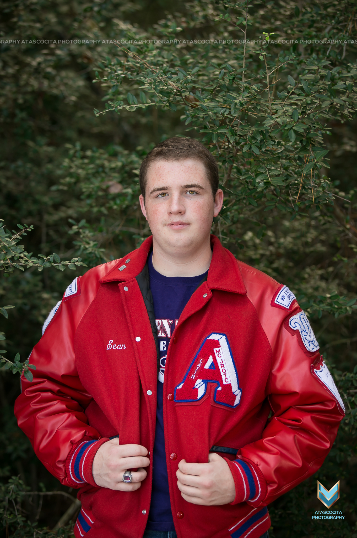
<path fill-rule="evenodd" d="M 216 404 L 237 407 L 241 401 L 238 374 L 227 336 L 212 332 L 203 341 L 182 383 L 175 388 L 174 401 L 193 402 L 203 398 L 208 383 L 217 385 Z"/>

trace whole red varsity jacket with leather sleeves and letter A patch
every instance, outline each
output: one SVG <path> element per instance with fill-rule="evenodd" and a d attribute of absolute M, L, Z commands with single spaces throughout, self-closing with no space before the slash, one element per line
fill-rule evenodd
<path fill-rule="evenodd" d="M 152 462 L 135 492 L 96 486 L 92 462 L 100 444 L 118 435 L 120 444 L 141 444 L 150 454 L 154 447 L 157 352 L 135 278 L 151 245 L 150 237 L 72 282 L 32 351 L 33 382 L 21 378 L 20 428 L 62 484 L 81 487 L 77 538 L 140 538 L 147 523 Z M 179 538 L 259 538 L 270 526 L 266 505 L 322 465 L 344 408 L 294 295 L 214 236 L 212 247 L 207 281 L 167 350 L 170 500 Z M 178 463 L 205 463 L 215 447 L 237 452 L 227 458 L 235 501 L 186 502 Z"/>

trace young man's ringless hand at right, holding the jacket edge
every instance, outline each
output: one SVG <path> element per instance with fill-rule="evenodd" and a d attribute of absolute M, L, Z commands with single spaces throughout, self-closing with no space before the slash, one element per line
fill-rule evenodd
<path fill-rule="evenodd" d="M 208 463 L 186 463 L 181 459 L 177 486 L 187 502 L 204 506 L 229 504 L 236 497 L 232 473 L 225 459 L 212 452 Z"/>

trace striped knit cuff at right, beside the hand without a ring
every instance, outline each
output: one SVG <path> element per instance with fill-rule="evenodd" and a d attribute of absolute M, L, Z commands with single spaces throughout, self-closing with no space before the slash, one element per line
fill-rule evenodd
<path fill-rule="evenodd" d="M 248 502 L 253 506 L 259 506 L 266 496 L 266 480 L 258 465 L 246 458 L 237 458 L 230 461 L 224 458 L 234 478 L 236 497 L 232 505 L 238 502 Z"/>

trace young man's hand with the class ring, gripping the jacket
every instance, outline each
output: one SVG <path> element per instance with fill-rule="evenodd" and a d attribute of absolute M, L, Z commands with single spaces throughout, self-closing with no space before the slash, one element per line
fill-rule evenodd
<path fill-rule="evenodd" d="M 99 447 L 93 459 L 92 473 L 94 482 L 110 490 L 135 491 L 141 486 L 147 472 L 144 467 L 150 464 L 148 451 L 140 444 L 119 444 L 119 439 L 111 439 Z M 133 482 L 123 482 L 123 474 L 132 471 Z"/>

